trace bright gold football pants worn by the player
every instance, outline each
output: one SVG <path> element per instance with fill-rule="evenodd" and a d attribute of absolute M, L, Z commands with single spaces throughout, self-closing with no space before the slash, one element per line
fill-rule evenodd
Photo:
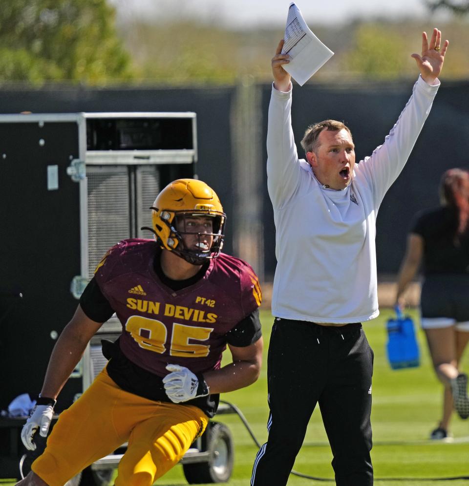
<path fill-rule="evenodd" d="M 128 442 L 115 485 L 150 486 L 177 464 L 208 420 L 193 405 L 128 393 L 104 369 L 60 414 L 32 470 L 49 486 L 63 486 L 87 465 Z"/>

